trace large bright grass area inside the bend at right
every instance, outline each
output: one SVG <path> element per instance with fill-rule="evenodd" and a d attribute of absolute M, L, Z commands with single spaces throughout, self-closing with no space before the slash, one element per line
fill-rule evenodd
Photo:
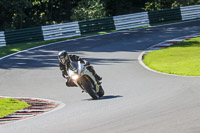
<path fill-rule="evenodd" d="M 149 52 L 143 61 L 156 71 L 176 75 L 200 76 L 200 37 Z"/>

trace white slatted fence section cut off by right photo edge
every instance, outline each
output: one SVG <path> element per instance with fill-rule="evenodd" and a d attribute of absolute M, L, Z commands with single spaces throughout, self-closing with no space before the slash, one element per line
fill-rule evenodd
<path fill-rule="evenodd" d="M 200 5 L 181 7 L 182 20 L 200 18 Z"/>

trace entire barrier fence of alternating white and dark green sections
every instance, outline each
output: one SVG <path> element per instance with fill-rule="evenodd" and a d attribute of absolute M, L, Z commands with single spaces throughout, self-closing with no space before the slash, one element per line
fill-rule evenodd
<path fill-rule="evenodd" d="M 200 5 L 0 32 L 0 46 L 200 18 Z"/>

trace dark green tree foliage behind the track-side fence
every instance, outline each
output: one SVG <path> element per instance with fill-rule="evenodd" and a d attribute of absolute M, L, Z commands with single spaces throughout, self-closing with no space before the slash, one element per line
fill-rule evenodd
<path fill-rule="evenodd" d="M 200 4 L 200 0 L 0 0 L 0 31 Z"/>

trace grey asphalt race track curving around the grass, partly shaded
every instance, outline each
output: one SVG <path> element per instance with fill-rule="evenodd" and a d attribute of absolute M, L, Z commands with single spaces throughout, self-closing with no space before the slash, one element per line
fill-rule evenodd
<path fill-rule="evenodd" d="M 146 48 L 200 32 L 200 21 L 120 31 L 26 51 L 0 61 L 0 95 L 61 101 L 57 111 L 0 126 L 0 133 L 199 133 L 200 78 L 151 72 Z M 88 59 L 103 77 L 105 96 L 91 100 L 67 88 L 57 53 Z"/>

